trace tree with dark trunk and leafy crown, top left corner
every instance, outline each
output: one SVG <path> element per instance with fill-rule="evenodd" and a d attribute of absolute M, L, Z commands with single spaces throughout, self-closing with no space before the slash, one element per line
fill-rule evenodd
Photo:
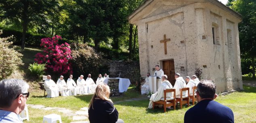
<path fill-rule="evenodd" d="M 57 0 L 0 0 L 0 19 L 19 19 L 22 23 L 21 48 L 25 48 L 25 35 L 30 23 L 46 21 L 46 15 L 51 13 Z"/>

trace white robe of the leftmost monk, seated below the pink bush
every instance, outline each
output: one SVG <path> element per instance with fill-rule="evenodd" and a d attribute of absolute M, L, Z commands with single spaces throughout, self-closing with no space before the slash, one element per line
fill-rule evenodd
<path fill-rule="evenodd" d="M 59 96 L 59 88 L 52 79 L 44 80 L 44 89 L 47 92 L 47 98 Z"/>

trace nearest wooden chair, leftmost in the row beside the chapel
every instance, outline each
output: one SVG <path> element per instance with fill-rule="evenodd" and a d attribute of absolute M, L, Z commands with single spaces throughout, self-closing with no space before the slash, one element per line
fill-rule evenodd
<path fill-rule="evenodd" d="M 161 98 L 161 100 L 157 102 L 153 102 L 153 110 L 154 106 L 158 104 L 163 104 L 163 110 L 166 112 L 166 107 L 173 106 L 173 109 L 176 110 L 176 98 L 175 98 L 175 89 L 166 89 L 164 92 L 164 98 Z M 166 93 L 174 92 L 173 97 L 166 98 Z"/>

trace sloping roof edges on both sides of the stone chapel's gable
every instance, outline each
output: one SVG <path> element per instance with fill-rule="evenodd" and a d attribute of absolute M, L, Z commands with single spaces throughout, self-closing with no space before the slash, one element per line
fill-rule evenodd
<path fill-rule="evenodd" d="M 130 20 L 132 19 L 137 13 L 139 13 L 143 8 L 145 8 L 148 4 L 150 4 L 151 2 L 153 2 L 154 0 L 145 0 L 142 5 L 140 5 L 138 8 L 136 8 L 133 13 L 131 13 L 127 19 Z M 240 15 L 239 13 L 237 13 L 236 11 L 232 10 L 231 8 L 229 8 L 228 6 L 226 6 L 225 4 L 223 4 L 222 2 L 218 1 L 218 0 L 207 0 L 209 2 L 211 2 L 212 4 L 216 4 L 217 6 L 219 6 L 220 8 L 229 11 L 230 13 L 233 13 L 233 15 L 235 15 L 236 17 L 238 17 L 239 19 L 242 19 L 242 15 Z"/>

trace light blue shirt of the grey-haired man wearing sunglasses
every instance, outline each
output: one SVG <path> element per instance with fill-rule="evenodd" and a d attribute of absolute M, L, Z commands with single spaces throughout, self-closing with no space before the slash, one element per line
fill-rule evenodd
<path fill-rule="evenodd" d="M 16 113 L 0 110 L 0 123 L 23 123 L 23 121 Z"/>

